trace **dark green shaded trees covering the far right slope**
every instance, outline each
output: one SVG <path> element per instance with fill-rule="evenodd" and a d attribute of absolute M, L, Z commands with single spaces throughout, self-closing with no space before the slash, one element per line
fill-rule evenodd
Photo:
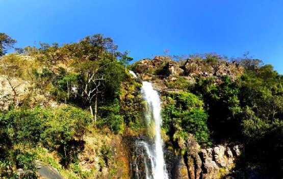
<path fill-rule="evenodd" d="M 252 168 L 252 164 L 279 177 L 283 173 L 279 152 L 283 149 L 283 76 L 271 65 L 261 66 L 257 59 L 245 58 L 239 63 L 245 73 L 238 80 L 224 76 L 215 83 L 213 78 L 199 78 L 190 90 L 204 101 L 214 142 L 245 145 L 239 167 Z"/>

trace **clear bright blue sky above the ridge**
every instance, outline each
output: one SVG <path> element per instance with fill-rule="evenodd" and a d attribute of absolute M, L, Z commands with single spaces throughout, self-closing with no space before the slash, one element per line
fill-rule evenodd
<path fill-rule="evenodd" d="M 0 32 L 17 47 L 112 37 L 135 60 L 162 55 L 249 51 L 283 74 L 281 0 L 0 0 Z"/>

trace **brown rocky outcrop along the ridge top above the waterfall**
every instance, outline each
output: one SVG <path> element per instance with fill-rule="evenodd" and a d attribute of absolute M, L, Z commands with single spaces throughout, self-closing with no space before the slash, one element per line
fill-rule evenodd
<path fill-rule="evenodd" d="M 156 56 L 152 60 L 143 59 L 137 62 L 135 72 L 143 80 L 157 79 L 176 80 L 176 76 L 183 76 L 193 82 L 196 77 L 209 78 L 214 76 L 219 82 L 222 76 L 229 76 L 236 80 L 244 72 L 244 68 L 236 62 L 204 61 L 201 58 L 187 59 L 183 64 L 168 57 Z"/>

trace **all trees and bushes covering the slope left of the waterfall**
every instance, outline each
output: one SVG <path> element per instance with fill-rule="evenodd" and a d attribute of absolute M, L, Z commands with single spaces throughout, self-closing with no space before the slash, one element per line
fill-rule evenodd
<path fill-rule="evenodd" d="M 0 35 L 3 56 L 15 40 Z M 132 92 L 139 85 L 125 68 L 131 60 L 100 34 L 62 46 L 18 48 L 1 57 L 0 74 L 12 101 L 0 113 L 0 177 L 17 178 L 16 169 L 22 168 L 24 177 L 36 178 L 34 161 L 39 159 L 60 172 L 71 170 L 64 174 L 69 178 L 88 178 L 91 173 L 78 166 L 83 136 L 92 128 L 122 133 L 128 125 L 131 114 L 121 109 L 120 99 L 122 82 L 133 83 Z M 52 156 L 43 157 L 38 146 L 55 152 L 60 164 Z M 101 154 L 107 160 L 109 153 Z"/>

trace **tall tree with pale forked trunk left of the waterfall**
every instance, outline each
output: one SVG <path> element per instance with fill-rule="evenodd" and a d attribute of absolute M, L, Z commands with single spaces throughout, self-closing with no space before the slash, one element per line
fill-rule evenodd
<path fill-rule="evenodd" d="M 115 89 L 119 85 L 124 74 L 123 65 L 132 58 L 127 57 L 127 52 L 118 52 L 118 46 L 113 40 L 101 34 L 87 36 L 80 42 L 65 47 L 72 48 L 74 52 L 73 68 L 82 76 L 82 96 L 96 122 L 99 96 L 111 95 L 107 92 L 115 91 L 111 88 Z"/>

